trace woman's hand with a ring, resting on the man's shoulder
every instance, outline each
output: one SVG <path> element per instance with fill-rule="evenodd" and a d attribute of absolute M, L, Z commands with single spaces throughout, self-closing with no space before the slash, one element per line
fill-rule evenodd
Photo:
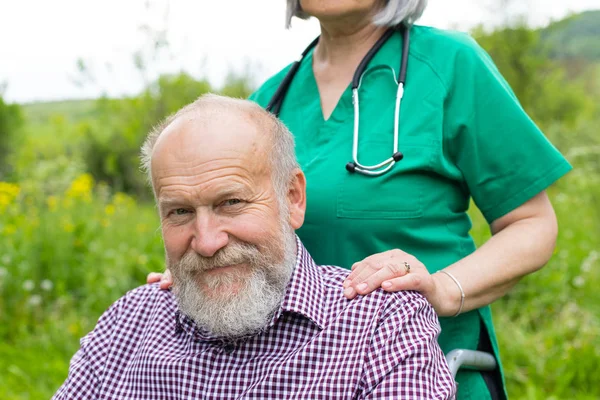
<path fill-rule="evenodd" d="M 438 311 L 442 306 L 440 293 L 443 285 L 436 282 L 425 265 L 416 257 L 402 250 L 394 249 L 373 254 L 352 265 L 352 272 L 344 281 L 344 296 L 353 299 L 382 288 L 388 292 L 416 290 L 424 295 Z"/>

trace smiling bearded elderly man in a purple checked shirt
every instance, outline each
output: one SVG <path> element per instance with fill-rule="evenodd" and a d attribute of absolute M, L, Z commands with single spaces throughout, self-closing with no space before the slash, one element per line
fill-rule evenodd
<path fill-rule="evenodd" d="M 172 291 L 119 299 L 55 399 L 448 399 L 433 308 L 415 292 L 348 300 L 294 230 L 305 178 L 258 105 L 206 95 L 142 149 Z"/>

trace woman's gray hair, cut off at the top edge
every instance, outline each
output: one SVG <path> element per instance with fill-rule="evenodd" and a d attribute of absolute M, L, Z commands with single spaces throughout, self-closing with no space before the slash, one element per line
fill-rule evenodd
<path fill-rule="evenodd" d="M 412 25 L 421 18 L 427 7 L 427 0 L 385 0 L 385 6 L 375 15 L 373 23 L 379 26 L 396 26 L 401 22 Z M 285 27 L 289 29 L 292 17 L 308 19 L 310 15 L 302 11 L 300 0 L 287 0 Z"/>

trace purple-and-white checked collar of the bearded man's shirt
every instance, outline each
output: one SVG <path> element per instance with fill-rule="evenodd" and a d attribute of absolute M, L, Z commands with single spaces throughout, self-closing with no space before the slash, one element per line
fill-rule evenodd
<path fill-rule="evenodd" d="M 326 326 L 326 319 L 320 306 L 324 302 L 325 286 L 319 266 L 315 264 L 298 236 L 296 236 L 296 265 L 281 306 L 275 312 L 273 319 L 265 327 L 265 330 L 277 323 L 279 318 L 286 312 L 301 314 L 323 329 Z M 195 340 L 222 343 L 230 341 L 226 338 L 212 336 L 179 310 L 175 314 L 175 321 L 177 332 L 185 332 Z M 243 339 L 236 338 L 235 341 Z"/>

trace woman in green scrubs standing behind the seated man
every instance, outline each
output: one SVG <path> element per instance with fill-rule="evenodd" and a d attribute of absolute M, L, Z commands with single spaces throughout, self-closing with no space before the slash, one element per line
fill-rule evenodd
<path fill-rule="evenodd" d="M 375 177 L 345 168 L 352 157 L 352 75 L 388 26 L 412 24 L 425 5 L 288 0 L 288 25 L 293 15 L 321 24 L 319 43 L 280 110 L 307 178 L 306 220 L 297 233 L 317 263 L 353 268 L 348 297 L 380 286 L 418 290 L 440 316 L 445 353 L 484 349 L 498 356 L 489 304 L 550 258 L 557 224 L 544 190 L 571 167 L 489 56 L 465 34 L 412 26 L 399 124 L 404 159 Z M 363 75 L 358 157 L 366 165 L 392 153 L 397 85 L 390 68 L 398 76 L 401 46 L 395 33 Z M 288 69 L 251 99 L 266 106 Z M 469 236 L 471 198 L 493 233 L 479 249 Z M 459 399 L 506 397 L 501 369 L 461 370 L 457 381 Z"/>

